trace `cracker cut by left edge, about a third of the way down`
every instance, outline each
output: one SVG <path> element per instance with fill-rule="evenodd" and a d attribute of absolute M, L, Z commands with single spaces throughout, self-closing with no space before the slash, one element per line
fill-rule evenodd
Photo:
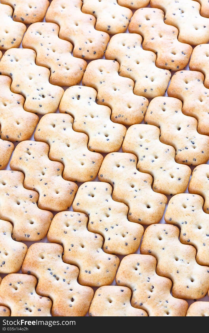
<path fill-rule="evenodd" d="M 25 99 L 11 92 L 12 80 L 0 75 L 0 138 L 23 141 L 32 136 L 38 123 L 38 116 L 23 109 Z"/>

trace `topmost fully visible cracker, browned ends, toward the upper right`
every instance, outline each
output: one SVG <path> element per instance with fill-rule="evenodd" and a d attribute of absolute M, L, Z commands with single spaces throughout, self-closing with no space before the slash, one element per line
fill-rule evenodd
<path fill-rule="evenodd" d="M 133 14 L 128 30 L 130 33 L 138 33 L 143 37 L 144 50 L 156 53 L 157 67 L 176 71 L 188 64 L 192 47 L 178 41 L 178 29 L 164 23 L 162 10 L 138 9 Z"/>

